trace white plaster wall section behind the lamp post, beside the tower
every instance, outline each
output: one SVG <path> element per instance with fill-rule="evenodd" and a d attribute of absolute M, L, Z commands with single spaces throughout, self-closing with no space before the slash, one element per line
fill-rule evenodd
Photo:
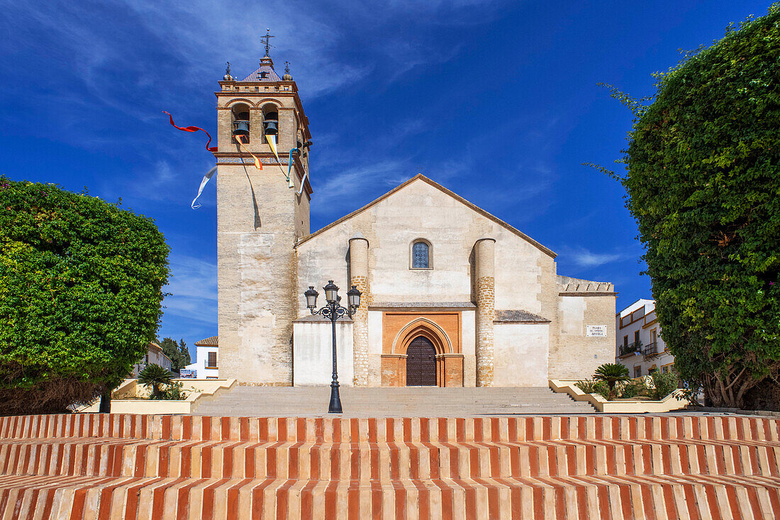
<path fill-rule="evenodd" d="M 336 356 L 339 385 L 353 386 L 351 322 L 336 322 Z M 293 386 L 329 385 L 332 371 L 331 322 L 293 323 Z"/>

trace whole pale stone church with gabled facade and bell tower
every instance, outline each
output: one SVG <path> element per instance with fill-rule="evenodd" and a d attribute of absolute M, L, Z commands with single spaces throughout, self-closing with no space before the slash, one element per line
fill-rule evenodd
<path fill-rule="evenodd" d="M 614 362 L 612 283 L 559 275 L 555 252 L 426 176 L 311 233 L 312 137 L 289 69 L 267 46 L 219 87 L 221 377 L 330 383 L 332 324 L 304 298 L 328 280 L 344 301 L 362 293 L 336 324 L 345 386 L 547 386 Z"/>

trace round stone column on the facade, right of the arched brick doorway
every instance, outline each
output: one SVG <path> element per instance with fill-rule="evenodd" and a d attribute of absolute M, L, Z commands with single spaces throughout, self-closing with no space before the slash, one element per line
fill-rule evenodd
<path fill-rule="evenodd" d="M 495 319 L 495 240 L 474 245 L 477 271 L 477 386 L 493 384 L 493 320 Z"/>

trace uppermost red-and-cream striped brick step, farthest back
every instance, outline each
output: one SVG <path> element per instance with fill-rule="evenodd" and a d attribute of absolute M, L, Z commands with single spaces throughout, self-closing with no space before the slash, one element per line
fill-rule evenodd
<path fill-rule="evenodd" d="M 0 440 L 99 437 L 254 442 L 736 440 L 780 442 L 780 420 L 734 415 L 267 418 L 71 414 L 0 417 Z"/>

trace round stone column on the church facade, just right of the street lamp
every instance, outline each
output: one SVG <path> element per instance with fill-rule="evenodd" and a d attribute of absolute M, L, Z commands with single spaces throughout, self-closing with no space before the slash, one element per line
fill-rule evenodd
<path fill-rule="evenodd" d="M 352 317 L 352 348 L 355 386 L 368 386 L 368 240 L 360 233 L 349 239 L 349 285 L 357 287 L 362 296 L 360 307 Z"/>

